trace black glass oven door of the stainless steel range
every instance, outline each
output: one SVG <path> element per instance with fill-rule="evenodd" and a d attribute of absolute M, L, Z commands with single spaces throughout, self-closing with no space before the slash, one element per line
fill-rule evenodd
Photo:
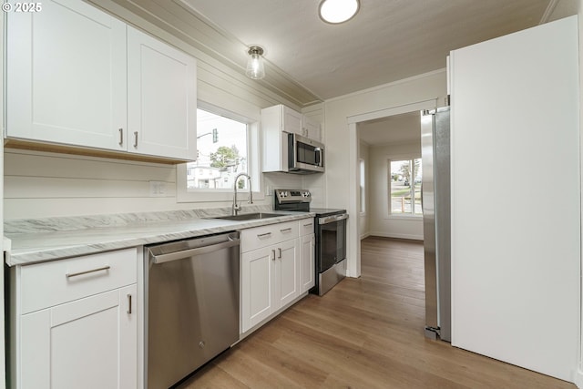
<path fill-rule="evenodd" d="M 347 213 L 332 215 L 318 220 L 316 237 L 316 271 L 327 271 L 334 264 L 346 259 Z"/>

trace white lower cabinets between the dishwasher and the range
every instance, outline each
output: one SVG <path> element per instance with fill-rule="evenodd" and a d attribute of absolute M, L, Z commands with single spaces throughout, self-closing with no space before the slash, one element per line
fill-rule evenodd
<path fill-rule="evenodd" d="M 313 274 L 308 274 L 314 269 L 313 234 L 301 239 L 302 223 L 241 231 L 241 333 L 281 312 L 313 286 Z"/>

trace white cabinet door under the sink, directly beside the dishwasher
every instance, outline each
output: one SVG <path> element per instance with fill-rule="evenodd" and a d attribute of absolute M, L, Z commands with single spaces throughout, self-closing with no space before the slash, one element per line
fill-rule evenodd
<path fill-rule="evenodd" d="M 272 276 L 274 246 L 243 252 L 241 256 L 241 332 L 274 312 Z"/>

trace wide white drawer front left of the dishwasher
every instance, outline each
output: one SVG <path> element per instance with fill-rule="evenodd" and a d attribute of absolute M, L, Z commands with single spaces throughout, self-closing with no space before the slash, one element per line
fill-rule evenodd
<path fill-rule="evenodd" d="M 137 249 L 23 266 L 21 313 L 34 312 L 137 282 Z"/>

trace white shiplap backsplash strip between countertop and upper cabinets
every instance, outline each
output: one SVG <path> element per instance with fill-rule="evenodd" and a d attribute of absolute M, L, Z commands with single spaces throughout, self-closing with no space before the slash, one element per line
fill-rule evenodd
<path fill-rule="evenodd" d="M 261 191 L 271 193 L 255 204 L 271 205 L 272 189 L 310 186 L 314 203 L 322 206 L 321 180 L 265 174 Z M 150 197 L 149 181 L 165 182 L 166 194 Z M 5 149 L 5 220 L 230 206 L 230 201 L 179 203 L 176 191 L 173 165 Z"/>

